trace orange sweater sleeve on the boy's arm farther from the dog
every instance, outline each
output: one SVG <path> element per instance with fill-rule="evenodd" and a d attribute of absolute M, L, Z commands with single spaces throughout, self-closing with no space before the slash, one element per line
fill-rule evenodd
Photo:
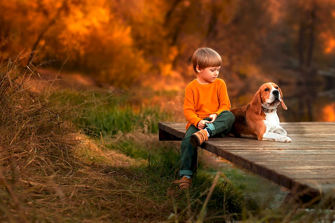
<path fill-rule="evenodd" d="M 184 115 L 187 121 L 195 127 L 198 127 L 199 122 L 202 120 L 195 114 L 194 94 L 190 86 L 187 86 L 185 90 Z"/>

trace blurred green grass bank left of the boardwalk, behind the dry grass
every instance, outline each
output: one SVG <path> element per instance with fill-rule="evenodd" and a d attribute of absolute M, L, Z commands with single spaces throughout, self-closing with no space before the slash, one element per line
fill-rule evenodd
<path fill-rule="evenodd" d="M 167 93 L 168 97 L 170 94 Z M 88 112 L 83 110 L 82 115 L 73 120 L 73 123 L 83 128 L 87 134 L 95 137 L 115 136 L 134 131 L 141 131 L 145 134 L 158 133 L 158 122 L 176 120 L 173 109 L 166 109 L 159 104 L 145 103 L 146 96 L 138 99 L 138 95 L 134 98 L 135 96 L 130 96 L 125 92 L 63 91 L 58 93 L 57 97 L 61 98 L 64 104 L 82 104 L 105 97 L 104 103 L 99 106 L 87 103 L 95 109 Z M 135 104 L 132 103 L 133 100 L 136 100 Z"/>

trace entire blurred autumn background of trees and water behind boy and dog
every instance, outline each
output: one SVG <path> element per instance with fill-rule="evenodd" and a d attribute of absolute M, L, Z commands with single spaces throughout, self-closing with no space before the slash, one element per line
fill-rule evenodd
<path fill-rule="evenodd" d="M 191 57 L 216 50 L 232 108 L 277 83 L 280 120 L 335 121 L 334 0 L 0 0 L 0 59 L 45 77 L 121 90 L 183 117 Z M 63 66 L 63 64 L 65 65 Z M 184 120 L 185 121 L 185 120 Z"/>

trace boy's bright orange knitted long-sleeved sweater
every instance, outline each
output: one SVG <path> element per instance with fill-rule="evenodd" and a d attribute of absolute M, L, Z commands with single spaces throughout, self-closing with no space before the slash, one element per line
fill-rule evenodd
<path fill-rule="evenodd" d="M 184 115 L 188 121 L 186 129 L 190 125 L 198 127 L 198 123 L 204 118 L 217 114 L 224 110 L 230 110 L 230 101 L 226 83 L 216 78 L 209 84 L 199 84 L 197 79 L 191 81 L 185 90 Z"/>

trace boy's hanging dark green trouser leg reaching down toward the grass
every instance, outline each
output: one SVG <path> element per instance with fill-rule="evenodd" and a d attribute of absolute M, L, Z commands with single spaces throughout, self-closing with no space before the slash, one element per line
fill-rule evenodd
<path fill-rule="evenodd" d="M 181 144 L 181 158 L 180 158 L 180 171 L 179 175 L 183 176 L 193 176 L 193 172 L 198 160 L 198 148 L 194 148 L 190 143 L 190 138 L 193 133 L 198 132 L 199 129 L 194 125 L 191 125 L 185 134 L 185 138 L 182 140 Z"/>

